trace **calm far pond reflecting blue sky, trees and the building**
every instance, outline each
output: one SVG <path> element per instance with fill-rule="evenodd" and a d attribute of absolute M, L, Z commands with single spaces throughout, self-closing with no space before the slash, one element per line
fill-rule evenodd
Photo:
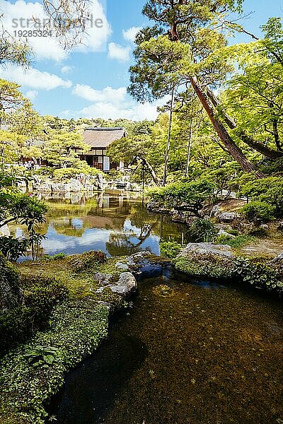
<path fill-rule="evenodd" d="M 108 192 L 95 196 L 81 193 L 40 196 L 49 206 L 47 234 L 41 254 L 76 254 L 102 250 L 109 257 L 148 250 L 159 254 L 160 237 L 186 242 L 185 225 L 149 213 L 140 194 Z M 20 228 L 14 229 L 19 233 Z"/>

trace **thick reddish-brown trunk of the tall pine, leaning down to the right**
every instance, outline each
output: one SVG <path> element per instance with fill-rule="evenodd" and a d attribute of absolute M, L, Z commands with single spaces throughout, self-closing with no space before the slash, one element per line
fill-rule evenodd
<path fill-rule="evenodd" d="M 222 143 L 224 143 L 224 146 L 227 148 L 231 156 L 238 162 L 239 165 L 241 165 L 243 170 L 245 170 L 246 172 L 255 171 L 256 175 L 259 178 L 264 177 L 265 175 L 257 170 L 255 165 L 253 165 L 253 163 L 251 163 L 248 158 L 246 158 L 246 155 L 243 154 L 241 148 L 239 148 L 233 141 L 233 139 L 231 139 L 231 136 L 226 130 L 224 124 L 222 124 L 222 122 L 215 117 L 214 106 L 211 100 L 209 100 L 207 93 L 205 93 L 200 83 L 198 83 L 197 78 L 195 76 L 190 77 L 190 83 L 192 85 L 192 88 L 195 90 L 197 97 L 200 99 L 204 110 L 207 112 L 207 115 L 210 121 L 212 122 L 212 125 L 214 126 L 216 134 L 219 136 L 219 139 L 221 139 Z"/>

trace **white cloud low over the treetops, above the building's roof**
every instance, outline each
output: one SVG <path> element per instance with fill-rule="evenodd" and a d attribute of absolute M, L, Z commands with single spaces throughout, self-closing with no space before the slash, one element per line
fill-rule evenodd
<path fill-rule="evenodd" d="M 156 119 L 156 117 L 158 117 L 157 107 L 164 105 L 170 97 L 166 96 L 166 98 L 152 104 L 147 102 L 141 105 L 127 95 L 126 87 L 106 87 L 103 88 L 103 90 L 95 90 L 90 86 L 81 84 L 76 84 L 73 94 L 88 100 L 88 102 L 91 102 L 91 105 L 83 107 L 81 110 L 65 110 L 62 112 L 64 117 L 100 117 L 104 119 L 126 118 L 134 121 Z"/>

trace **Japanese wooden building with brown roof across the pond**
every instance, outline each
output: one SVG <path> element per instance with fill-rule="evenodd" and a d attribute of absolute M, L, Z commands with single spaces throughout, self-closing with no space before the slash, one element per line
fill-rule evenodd
<path fill-rule="evenodd" d="M 81 160 L 86 160 L 91 167 L 105 172 L 119 170 L 124 167 L 124 164 L 110 162 L 110 158 L 105 155 L 105 152 L 112 141 L 120 140 L 125 136 L 125 128 L 86 128 L 83 139 L 91 147 L 91 150 L 81 155 Z"/>

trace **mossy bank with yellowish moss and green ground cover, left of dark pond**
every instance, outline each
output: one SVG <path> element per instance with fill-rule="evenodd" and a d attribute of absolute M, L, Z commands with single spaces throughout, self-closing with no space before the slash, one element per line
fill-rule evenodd
<path fill-rule="evenodd" d="M 121 271 L 115 267 L 116 262 L 83 254 L 18 265 L 25 282 L 25 300 L 37 296 L 37 302 L 46 307 L 46 288 L 37 287 L 36 281 L 57 281 L 68 294 L 64 300 L 55 298 L 51 312 L 46 309 L 47 316 L 40 316 L 41 326 L 24 343 L 14 343 L 1 359 L 0 424 L 43 423 L 45 404 L 63 384 L 65 373 L 105 338 L 109 310 L 99 301 L 120 307 L 124 300 L 111 290 L 96 293 L 98 273 L 110 274 L 110 281 L 117 281 Z"/>

